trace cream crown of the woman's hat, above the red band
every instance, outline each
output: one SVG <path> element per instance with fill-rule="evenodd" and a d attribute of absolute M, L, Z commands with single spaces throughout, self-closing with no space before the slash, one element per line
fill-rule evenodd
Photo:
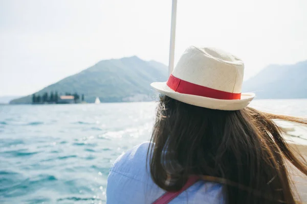
<path fill-rule="evenodd" d="M 192 84 L 240 93 L 244 63 L 221 49 L 190 46 L 181 56 L 172 75 Z"/>

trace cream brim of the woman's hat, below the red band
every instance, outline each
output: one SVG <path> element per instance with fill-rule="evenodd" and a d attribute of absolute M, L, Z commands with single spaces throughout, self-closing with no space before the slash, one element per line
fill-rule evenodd
<path fill-rule="evenodd" d="M 241 99 L 225 100 L 225 99 L 208 98 L 204 96 L 178 93 L 170 89 L 166 85 L 166 82 L 154 82 L 150 84 L 150 86 L 156 89 L 158 92 L 165 94 L 173 99 L 179 100 L 183 103 L 209 108 L 209 109 L 217 109 L 225 111 L 235 111 L 235 110 L 244 109 L 250 104 L 250 102 L 255 97 L 254 93 L 242 93 Z"/>

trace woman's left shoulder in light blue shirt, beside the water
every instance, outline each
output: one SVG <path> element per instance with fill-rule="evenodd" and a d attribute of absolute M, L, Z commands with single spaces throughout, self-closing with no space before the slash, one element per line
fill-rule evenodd
<path fill-rule="evenodd" d="M 107 179 L 107 203 L 152 203 L 164 193 L 151 180 L 146 165 L 150 144 L 137 145 L 114 162 Z"/>

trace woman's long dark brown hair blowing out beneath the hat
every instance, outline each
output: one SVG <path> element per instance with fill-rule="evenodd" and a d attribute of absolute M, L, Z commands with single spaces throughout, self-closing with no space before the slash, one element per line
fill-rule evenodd
<path fill-rule="evenodd" d="M 224 185 L 227 203 L 298 203 L 285 158 L 305 175 L 307 164 L 273 119 L 307 124 L 250 107 L 212 110 L 161 96 L 147 154 L 151 177 L 177 191 L 188 176 L 201 175 Z"/>

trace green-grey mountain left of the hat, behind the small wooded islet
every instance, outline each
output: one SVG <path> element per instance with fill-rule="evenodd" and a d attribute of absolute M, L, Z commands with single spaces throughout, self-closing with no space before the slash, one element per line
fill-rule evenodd
<path fill-rule="evenodd" d="M 167 66 L 156 61 L 143 61 L 133 56 L 121 59 L 102 60 L 94 66 L 64 78 L 35 94 L 65 92 L 84 94 L 85 101 L 101 102 L 150 100 L 152 82 L 166 81 Z M 14 99 L 10 104 L 30 104 L 32 94 Z"/>

